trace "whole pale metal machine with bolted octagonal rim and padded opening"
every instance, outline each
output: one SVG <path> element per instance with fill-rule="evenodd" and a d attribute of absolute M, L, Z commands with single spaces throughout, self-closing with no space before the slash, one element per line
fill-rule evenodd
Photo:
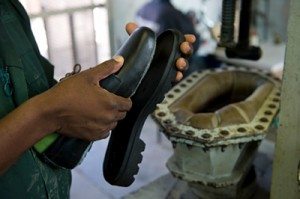
<path fill-rule="evenodd" d="M 225 97 L 221 99 L 226 103 L 219 103 L 213 98 L 204 101 L 205 103 L 199 103 L 202 97 L 211 95 L 204 92 L 207 91 L 207 87 L 222 92 L 213 84 L 222 81 L 223 75 L 224 79 L 232 78 L 232 75 L 235 77 L 244 75 L 250 78 L 252 84 L 249 87 L 247 82 L 242 82 L 240 86 L 240 90 L 246 90 L 246 97 L 237 98 L 240 101 L 231 103 L 226 99 L 228 96 L 224 95 Z M 212 84 L 206 82 L 209 78 L 214 78 Z M 203 82 L 206 82 L 205 86 L 201 85 L 204 84 Z M 253 85 L 259 86 L 253 88 Z M 223 85 L 221 83 L 218 86 Z M 228 86 L 227 90 L 234 86 L 234 84 Z M 239 91 L 238 86 L 234 88 Z M 193 93 L 196 93 L 199 98 L 195 98 Z M 258 94 L 262 94 L 262 97 L 259 98 Z M 239 92 L 236 92 L 236 95 L 240 97 Z M 237 190 L 249 173 L 259 143 L 266 136 L 278 112 L 279 97 L 280 82 L 267 72 L 258 69 L 227 67 L 191 74 L 166 94 L 164 101 L 157 105 L 153 113 L 163 133 L 173 144 L 174 154 L 167 162 L 170 172 L 175 177 L 188 182 L 191 189 L 197 187 L 195 192 L 204 198 L 205 195 L 202 194 L 211 190 L 218 194 L 225 194 L 229 189 Z M 213 108 L 209 107 L 209 100 L 213 102 L 211 103 Z M 243 100 L 248 100 L 251 106 L 247 106 Z M 200 108 L 191 105 L 193 103 L 199 103 Z M 222 111 L 228 115 L 228 118 L 226 114 L 224 114 L 226 117 L 219 114 Z M 236 113 L 240 116 L 238 119 L 234 118 Z M 203 115 L 205 117 L 202 117 Z M 232 121 L 230 116 L 233 116 Z M 190 119 L 193 117 L 196 120 Z M 222 117 L 227 123 L 222 121 Z M 211 124 L 207 125 L 209 126 L 207 128 L 201 128 L 202 124 L 198 125 L 207 121 Z M 211 195 L 209 197 L 214 198 Z M 232 196 L 235 197 L 236 195 Z"/>

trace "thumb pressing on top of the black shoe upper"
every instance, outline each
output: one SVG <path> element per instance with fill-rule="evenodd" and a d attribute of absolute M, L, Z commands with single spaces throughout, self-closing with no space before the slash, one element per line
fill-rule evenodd
<path fill-rule="evenodd" d="M 114 56 L 112 59 L 105 61 L 92 69 L 92 74 L 96 81 L 105 79 L 107 76 L 116 73 L 122 67 L 124 58 L 122 56 Z"/>

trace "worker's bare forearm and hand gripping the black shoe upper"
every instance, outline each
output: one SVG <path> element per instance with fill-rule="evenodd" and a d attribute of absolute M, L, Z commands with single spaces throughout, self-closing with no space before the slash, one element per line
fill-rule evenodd
<path fill-rule="evenodd" d="M 99 86 L 123 64 L 118 57 L 71 76 L 0 120 L 0 173 L 34 143 L 54 131 L 85 140 L 108 136 L 131 101 Z"/>

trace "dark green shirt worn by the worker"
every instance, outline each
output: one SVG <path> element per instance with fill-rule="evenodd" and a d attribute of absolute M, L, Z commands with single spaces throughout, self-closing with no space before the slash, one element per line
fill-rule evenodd
<path fill-rule="evenodd" d="M 53 66 L 34 40 L 17 0 L 0 0 L 0 117 L 54 84 Z M 29 149 L 2 176 L 0 198 L 69 198 L 69 170 L 52 168 Z"/>

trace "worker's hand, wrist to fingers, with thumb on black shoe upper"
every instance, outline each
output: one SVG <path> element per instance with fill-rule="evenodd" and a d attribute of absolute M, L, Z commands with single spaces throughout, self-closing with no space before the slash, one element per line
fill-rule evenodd
<path fill-rule="evenodd" d="M 131 100 L 101 88 L 99 81 L 117 72 L 123 57 L 114 59 L 69 76 L 42 94 L 56 131 L 70 137 L 98 140 L 123 119 L 131 108 Z"/>

